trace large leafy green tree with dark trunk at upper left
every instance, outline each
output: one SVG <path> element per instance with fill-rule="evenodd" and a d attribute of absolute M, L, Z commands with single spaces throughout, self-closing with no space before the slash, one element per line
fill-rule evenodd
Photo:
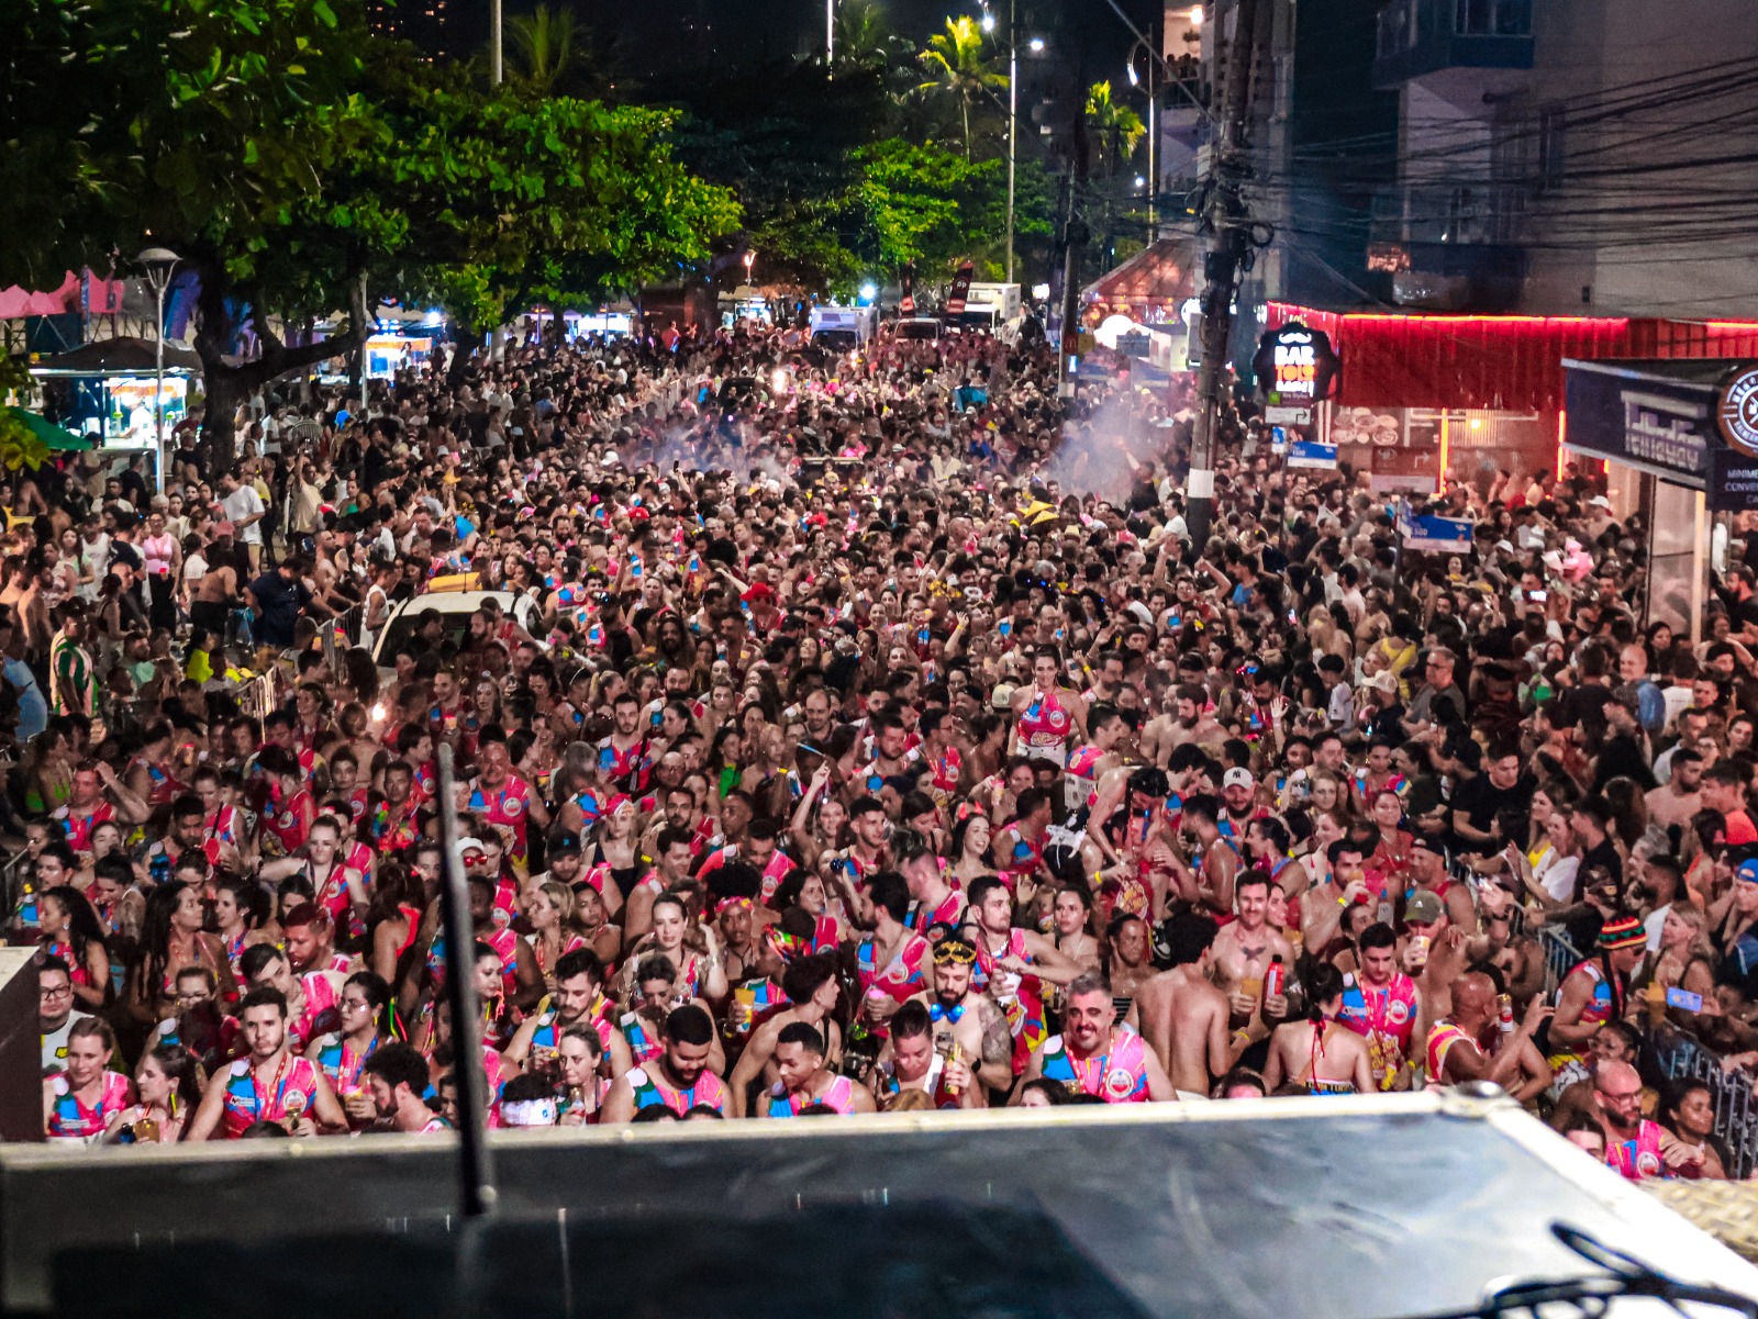
<path fill-rule="evenodd" d="M 178 251 L 218 462 L 237 400 L 357 350 L 381 297 L 492 325 L 559 272 L 622 288 L 738 223 L 672 158 L 668 116 L 483 95 L 373 37 L 360 0 L 26 9 L 30 42 L 0 47 L 0 283 Z M 327 341 L 287 341 L 338 309 Z"/>

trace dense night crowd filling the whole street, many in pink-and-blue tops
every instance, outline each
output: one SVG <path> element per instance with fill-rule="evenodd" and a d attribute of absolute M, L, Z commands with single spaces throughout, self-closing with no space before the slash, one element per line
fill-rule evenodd
<path fill-rule="evenodd" d="M 1422 555 L 1241 404 L 1194 541 L 1113 365 L 543 344 L 16 479 L 47 1135 L 441 1131 L 468 973 L 505 1128 L 1493 1082 L 1726 1175 L 1638 1054 L 1758 1057 L 1758 539 L 1691 645 L 1602 478 L 1450 481 Z"/>

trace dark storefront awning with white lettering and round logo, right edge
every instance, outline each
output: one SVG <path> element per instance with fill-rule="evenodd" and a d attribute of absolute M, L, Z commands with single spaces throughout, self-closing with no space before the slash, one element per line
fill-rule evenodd
<path fill-rule="evenodd" d="M 1563 360 L 1565 448 L 1758 509 L 1758 360 Z"/>

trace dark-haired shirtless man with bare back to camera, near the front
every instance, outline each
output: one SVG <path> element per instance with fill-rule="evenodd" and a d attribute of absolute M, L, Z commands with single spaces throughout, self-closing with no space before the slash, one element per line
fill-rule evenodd
<path fill-rule="evenodd" d="M 1173 1089 L 1202 1096 L 1243 1050 L 1227 1036 L 1227 996 L 1210 980 L 1215 922 L 1185 912 L 1166 922 L 1164 934 L 1173 969 L 1136 991 L 1125 1024 L 1148 1042 Z"/>

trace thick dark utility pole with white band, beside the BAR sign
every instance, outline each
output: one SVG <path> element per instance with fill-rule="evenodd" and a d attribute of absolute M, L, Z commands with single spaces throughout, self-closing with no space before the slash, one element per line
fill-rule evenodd
<path fill-rule="evenodd" d="M 1190 479 L 1185 483 L 1185 527 L 1190 544 L 1202 553 L 1215 511 L 1215 434 L 1225 404 L 1227 344 L 1232 339 L 1232 299 L 1239 283 L 1239 258 L 1250 246 L 1250 216 L 1239 184 L 1246 174 L 1246 112 L 1252 104 L 1252 67 L 1259 42 L 1268 37 L 1266 0 L 1236 0 L 1232 42 L 1227 47 L 1227 88 L 1222 97 L 1220 139 L 1210 158 L 1208 251 L 1202 253 L 1202 367 L 1197 372 L 1197 418 L 1190 444 Z M 1225 12 L 1215 14 L 1217 39 Z"/>

